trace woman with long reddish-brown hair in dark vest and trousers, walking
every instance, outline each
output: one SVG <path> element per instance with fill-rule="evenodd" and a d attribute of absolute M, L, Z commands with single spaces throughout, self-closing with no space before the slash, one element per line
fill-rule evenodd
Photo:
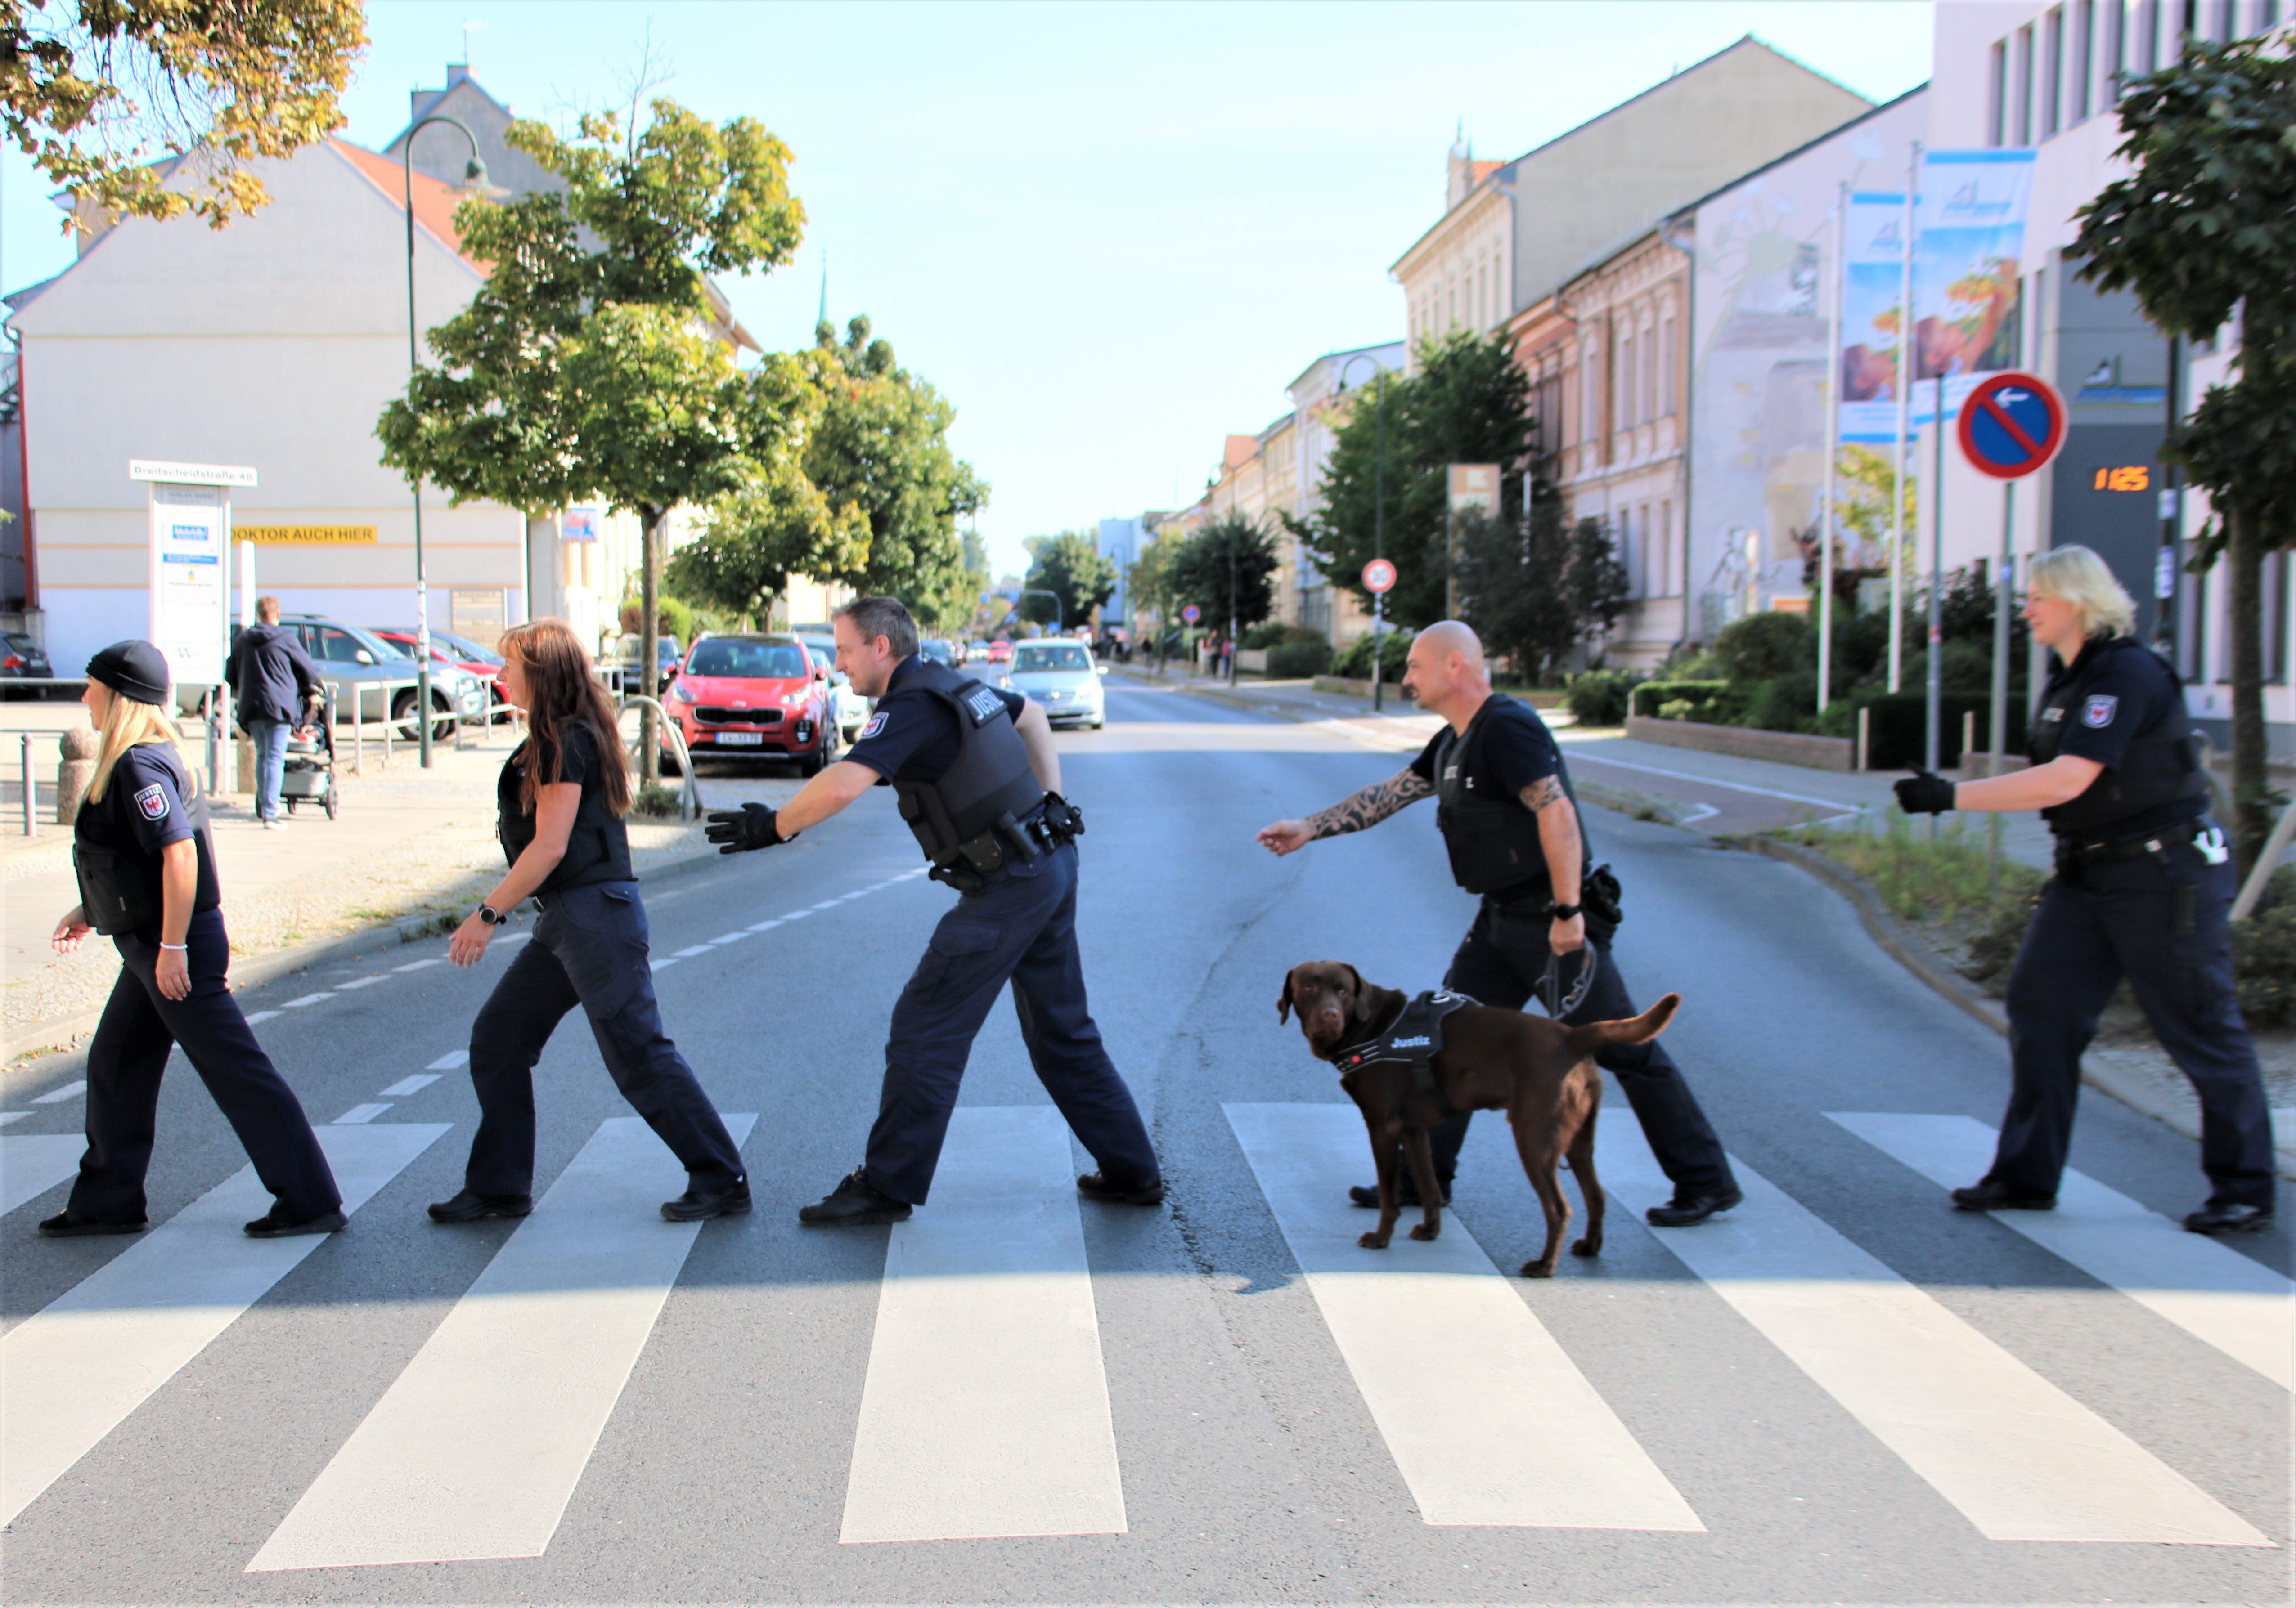
<path fill-rule="evenodd" d="M 677 1046 L 661 1032 L 647 966 L 645 906 L 629 867 L 629 766 L 613 707 L 563 619 L 503 633 L 503 695 L 526 711 L 526 741 L 496 785 L 510 872 L 448 945 L 475 966 L 521 899 L 542 915 L 535 938 L 471 1023 L 478 1138 L 464 1188 L 436 1202 L 439 1223 L 523 1218 L 535 1209 L 535 1062 L 581 1005 L 622 1099 L 687 1168 L 687 1193 L 661 1204 L 673 1223 L 748 1211 L 742 1152 Z"/>

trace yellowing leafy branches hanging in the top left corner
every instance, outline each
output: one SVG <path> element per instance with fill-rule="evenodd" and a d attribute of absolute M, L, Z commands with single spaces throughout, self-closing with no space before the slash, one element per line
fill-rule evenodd
<path fill-rule="evenodd" d="M 99 213 L 220 229 L 269 200 L 250 161 L 342 126 L 365 48 L 358 0 L 16 0 L 0 128 Z"/>

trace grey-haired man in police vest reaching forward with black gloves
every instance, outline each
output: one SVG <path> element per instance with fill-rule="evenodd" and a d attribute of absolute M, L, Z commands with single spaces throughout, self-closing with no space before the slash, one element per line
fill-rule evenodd
<path fill-rule="evenodd" d="M 1035 1076 L 1100 1163 L 1077 1193 L 1159 1204 L 1155 1145 L 1084 1002 L 1075 842 L 1084 817 L 1061 798 L 1045 709 L 921 658 L 900 599 L 847 603 L 833 631 L 838 670 L 877 700 L 861 739 L 781 810 L 712 814 L 709 842 L 719 853 L 769 849 L 891 782 L 932 879 L 964 897 L 893 1005 L 866 1158 L 827 1200 L 799 1209 L 799 1223 L 900 1223 L 925 1204 L 964 1062 L 1006 982 Z"/>

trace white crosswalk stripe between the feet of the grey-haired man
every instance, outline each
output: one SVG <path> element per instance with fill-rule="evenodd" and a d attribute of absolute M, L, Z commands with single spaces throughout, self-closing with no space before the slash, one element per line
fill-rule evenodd
<path fill-rule="evenodd" d="M 1123 1532 L 1068 1124 L 960 1106 L 886 1243 L 838 1541 Z"/>

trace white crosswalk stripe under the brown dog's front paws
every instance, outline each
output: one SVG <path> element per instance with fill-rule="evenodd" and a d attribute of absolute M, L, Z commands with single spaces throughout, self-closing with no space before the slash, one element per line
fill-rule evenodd
<path fill-rule="evenodd" d="M 1224 1110 L 1426 1523 L 1706 1528 L 1456 1216 L 1433 1243 L 1407 1239 L 1417 1213 L 1387 1250 L 1355 1243 L 1355 1106 Z"/>

